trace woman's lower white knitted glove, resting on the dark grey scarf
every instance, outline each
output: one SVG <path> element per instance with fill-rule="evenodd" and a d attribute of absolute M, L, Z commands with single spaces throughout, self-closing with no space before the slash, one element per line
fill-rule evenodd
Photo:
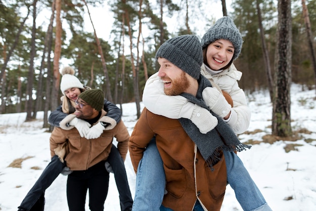
<path fill-rule="evenodd" d="M 217 118 L 212 113 L 196 104 L 194 105 L 190 120 L 202 134 L 212 131 L 218 123 Z"/>

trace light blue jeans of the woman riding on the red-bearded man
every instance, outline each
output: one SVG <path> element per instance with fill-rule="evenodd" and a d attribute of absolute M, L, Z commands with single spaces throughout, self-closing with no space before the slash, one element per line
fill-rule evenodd
<path fill-rule="evenodd" d="M 272 211 L 240 158 L 234 152 L 228 151 L 224 151 L 224 156 L 227 168 L 227 182 L 234 189 L 236 198 L 243 210 Z M 152 169 L 155 171 L 151 172 Z M 136 193 L 132 210 L 158 211 L 163 201 L 163 195 L 161 194 L 165 189 L 165 183 L 166 176 L 163 161 L 157 151 L 155 141 L 152 139 L 144 151 L 137 168 Z M 154 197 L 155 195 L 157 196 Z M 144 208 L 139 209 L 139 207 Z M 162 206 L 161 210 L 168 210 L 164 208 L 166 207 Z"/>

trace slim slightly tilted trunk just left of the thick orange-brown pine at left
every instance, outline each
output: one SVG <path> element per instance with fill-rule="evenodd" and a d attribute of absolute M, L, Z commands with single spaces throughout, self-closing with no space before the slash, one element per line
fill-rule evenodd
<path fill-rule="evenodd" d="M 47 78 L 46 78 L 46 99 L 45 99 L 45 104 L 44 104 L 44 120 L 43 120 L 43 128 L 48 128 L 49 131 L 52 131 L 53 126 L 48 124 L 48 110 L 49 110 L 49 105 L 50 105 L 50 96 L 51 96 L 51 87 L 52 87 L 52 74 L 51 74 L 51 58 L 50 58 L 50 53 L 51 53 L 51 47 L 52 47 L 52 25 L 54 23 L 54 17 L 55 17 L 55 4 L 56 0 L 52 1 L 51 5 L 51 16 L 49 20 L 49 25 L 47 29 Z M 54 108 L 55 109 L 55 108 Z"/>

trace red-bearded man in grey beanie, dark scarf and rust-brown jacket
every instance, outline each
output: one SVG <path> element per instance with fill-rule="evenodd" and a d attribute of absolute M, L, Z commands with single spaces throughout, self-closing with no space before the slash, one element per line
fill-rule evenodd
<path fill-rule="evenodd" d="M 166 95 L 181 95 L 209 110 L 202 92 L 212 85 L 200 74 L 202 49 L 195 35 L 167 40 L 156 52 L 156 59 L 161 66 L 159 86 L 164 86 Z M 223 101 L 225 98 L 221 96 L 212 107 L 222 109 Z M 190 119 L 170 119 L 143 109 L 130 137 L 129 151 L 137 172 L 146 146 L 155 137 L 166 174 L 161 211 L 220 210 L 227 181 L 223 150 L 240 151 L 248 147 L 239 142 L 222 118 L 213 111 L 210 113 L 216 117 L 210 119 L 215 128 L 203 134 Z M 194 115 L 200 113 L 197 111 Z"/>

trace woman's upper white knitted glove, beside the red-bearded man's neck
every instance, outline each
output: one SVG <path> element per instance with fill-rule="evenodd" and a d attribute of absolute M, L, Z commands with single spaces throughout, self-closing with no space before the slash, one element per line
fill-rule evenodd
<path fill-rule="evenodd" d="M 231 111 L 231 105 L 216 88 L 206 87 L 202 92 L 202 97 L 210 110 L 222 118 L 227 116 Z"/>

